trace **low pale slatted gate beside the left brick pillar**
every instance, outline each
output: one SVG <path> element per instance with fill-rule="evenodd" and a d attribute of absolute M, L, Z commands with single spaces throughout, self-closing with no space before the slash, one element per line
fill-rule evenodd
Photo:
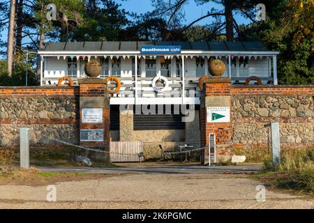
<path fill-rule="evenodd" d="M 111 162 L 142 162 L 142 141 L 110 141 Z"/>

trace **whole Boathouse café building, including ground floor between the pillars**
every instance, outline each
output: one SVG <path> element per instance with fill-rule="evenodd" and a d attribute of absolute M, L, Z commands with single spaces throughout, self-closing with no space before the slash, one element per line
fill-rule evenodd
<path fill-rule="evenodd" d="M 251 76 L 259 77 L 263 84 L 278 84 L 278 52 L 259 42 L 47 43 L 38 54 L 41 86 L 56 85 L 61 77 L 70 77 L 77 84 L 78 78 L 86 77 L 85 64 L 98 61 L 102 67 L 99 78 L 114 76 L 121 82 L 119 91 L 110 95 L 112 140 L 129 137 L 154 148 L 160 144 L 165 149 L 184 143 L 200 144 L 198 82 L 200 77 L 210 75 L 210 59 L 225 63 L 223 77 L 230 77 L 233 84 L 243 83 Z M 177 114 L 134 114 L 131 127 L 121 126 L 123 116 L 119 105 L 193 104 L 196 105 L 193 123 L 182 123 Z M 122 135 L 121 128 L 131 128 L 123 131 L 128 136 Z"/>

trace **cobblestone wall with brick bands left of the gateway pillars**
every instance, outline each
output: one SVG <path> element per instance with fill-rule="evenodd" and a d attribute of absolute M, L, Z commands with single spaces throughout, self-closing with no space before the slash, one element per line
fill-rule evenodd
<path fill-rule="evenodd" d="M 30 128 L 31 146 L 78 144 L 77 88 L 0 87 L 0 146 L 20 144 L 20 128 Z"/>

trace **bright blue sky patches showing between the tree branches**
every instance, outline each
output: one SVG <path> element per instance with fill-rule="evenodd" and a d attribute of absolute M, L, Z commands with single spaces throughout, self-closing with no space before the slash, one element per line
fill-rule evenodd
<path fill-rule="evenodd" d="M 115 0 L 117 3 L 121 4 L 122 8 L 125 8 L 126 10 L 137 13 L 137 14 L 144 14 L 148 11 L 151 11 L 154 9 L 154 6 L 151 5 L 151 0 Z M 190 0 L 188 4 L 184 7 L 184 13 L 186 15 L 186 21 L 183 21 L 184 24 L 189 24 L 190 22 L 193 22 L 198 17 L 205 15 L 211 8 L 216 9 L 222 9 L 222 6 L 217 5 L 215 3 L 205 3 L 202 6 L 197 6 L 197 3 L 195 3 L 194 0 Z M 242 17 L 241 15 L 234 15 L 238 24 L 248 24 L 250 21 L 246 18 Z M 212 21 L 211 17 L 208 17 L 204 20 L 201 20 L 197 24 L 209 24 Z M 3 31 L 2 34 L 2 40 L 7 40 L 8 33 L 7 31 Z M 23 41 L 29 42 L 29 40 L 24 39 Z"/>

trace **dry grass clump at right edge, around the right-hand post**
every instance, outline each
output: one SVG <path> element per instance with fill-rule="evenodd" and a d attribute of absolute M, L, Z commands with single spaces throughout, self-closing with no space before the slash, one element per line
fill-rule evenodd
<path fill-rule="evenodd" d="M 257 174 L 277 188 L 314 194 L 314 148 L 286 149 L 281 164 L 274 167 L 271 160 L 264 160 L 262 171 Z"/>

